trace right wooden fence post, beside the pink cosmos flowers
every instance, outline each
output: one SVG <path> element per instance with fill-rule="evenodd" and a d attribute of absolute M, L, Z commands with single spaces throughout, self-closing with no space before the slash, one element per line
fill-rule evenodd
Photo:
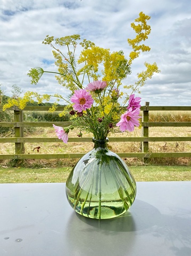
<path fill-rule="evenodd" d="M 143 110 L 142 114 L 142 122 L 148 122 L 148 108 L 149 102 L 145 102 L 146 109 Z M 148 137 L 148 126 L 142 127 L 142 137 Z M 142 152 L 147 153 L 148 152 L 148 142 L 142 142 Z M 143 161 L 146 162 L 148 158 L 143 158 Z"/>

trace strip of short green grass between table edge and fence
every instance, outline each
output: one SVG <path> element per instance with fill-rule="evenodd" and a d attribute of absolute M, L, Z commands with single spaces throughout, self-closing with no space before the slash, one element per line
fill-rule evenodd
<path fill-rule="evenodd" d="M 0 168 L 0 183 L 65 182 L 71 167 Z M 191 166 L 131 166 L 136 181 L 191 181 Z"/>

